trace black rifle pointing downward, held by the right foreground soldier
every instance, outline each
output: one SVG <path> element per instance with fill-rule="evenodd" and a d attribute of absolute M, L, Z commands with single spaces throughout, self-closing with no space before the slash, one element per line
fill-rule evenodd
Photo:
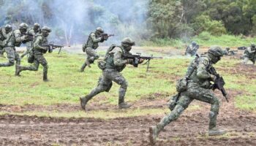
<path fill-rule="evenodd" d="M 218 89 L 219 91 L 222 91 L 222 96 L 225 96 L 226 101 L 227 100 L 227 92 L 225 91 L 224 85 L 225 85 L 225 81 L 223 79 L 223 77 L 220 77 L 219 74 L 217 74 L 216 70 L 214 69 L 213 66 L 211 66 L 210 68 L 208 68 L 208 72 L 210 74 L 213 74 L 216 77 L 216 80 L 214 80 L 214 85 L 213 85 L 213 90 Z"/>

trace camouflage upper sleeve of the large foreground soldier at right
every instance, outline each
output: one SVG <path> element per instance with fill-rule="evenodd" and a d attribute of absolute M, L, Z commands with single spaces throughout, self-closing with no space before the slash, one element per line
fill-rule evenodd
<path fill-rule="evenodd" d="M 200 79 L 208 79 L 211 75 L 206 71 L 206 67 L 209 65 L 208 58 L 200 58 L 197 66 L 197 77 Z"/>

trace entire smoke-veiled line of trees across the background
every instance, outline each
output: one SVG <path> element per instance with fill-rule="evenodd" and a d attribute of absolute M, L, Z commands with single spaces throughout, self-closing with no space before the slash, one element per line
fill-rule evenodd
<path fill-rule="evenodd" d="M 255 0 L 0 0 L 0 8 L 1 25 L 48 25 L 67 44 L 97 26 L 136 40 L 256 34 Z"/>

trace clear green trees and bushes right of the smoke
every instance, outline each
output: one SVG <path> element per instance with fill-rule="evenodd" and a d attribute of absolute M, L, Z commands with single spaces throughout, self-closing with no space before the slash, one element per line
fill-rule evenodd
<path fill-rule="evenodd" d="M 154 38 L 256 34 L 255 0 L 151 0 L 148 27 Z"/>

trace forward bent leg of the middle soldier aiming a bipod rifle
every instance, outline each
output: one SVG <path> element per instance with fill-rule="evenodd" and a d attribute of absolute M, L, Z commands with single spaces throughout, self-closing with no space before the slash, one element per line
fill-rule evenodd
<path fill-rule="evenodd" d="M 128 82 L 125 80 L 123 75 L 120 72 L 109 72 L 108 78 L 110 80 L 113 80 L 116 82 L 118 85 L 120 85 L 119 91 L 118 91 L 118 106 L 120 108 L 129 108 L 131 105 L 126 104 L 124 102 L 124 96 L 125 93 L 127 92 L 127 87 L 128 87 Z"/>

